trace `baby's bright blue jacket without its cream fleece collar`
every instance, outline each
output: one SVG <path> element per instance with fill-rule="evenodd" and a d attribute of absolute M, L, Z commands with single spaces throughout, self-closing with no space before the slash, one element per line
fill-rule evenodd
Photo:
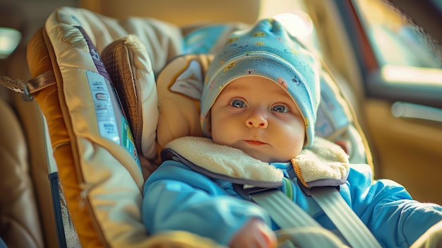
<path fill-rule="evenodd" d="M 400 184 L 371 178 L 368 167 L 352 166 L 340 194 L 383 247 L 409 247 L 442 220 L 441 206 L 419 203 Z M 297 184 L 292 187 L 293 201 L 323 227 L 335 230 L 316 202 Z M 166 161 L 145 183 L 142 219 L 151 234 L 187 230 L 228 244 L 251 218 L 278 229 L 263 208 L 241 199 L 231 182 L 206 177 L 179 162 Z"/>

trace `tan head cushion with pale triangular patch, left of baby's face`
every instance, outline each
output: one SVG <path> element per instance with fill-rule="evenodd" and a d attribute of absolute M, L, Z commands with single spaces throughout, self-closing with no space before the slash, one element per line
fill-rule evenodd
<path fill-rule="evenodd" d="M 201 136 L 200 100 L 213 56 L 186 54 L 169 62 L 157 77 L 157 141 L 165 147 L 184 136 Z"/>

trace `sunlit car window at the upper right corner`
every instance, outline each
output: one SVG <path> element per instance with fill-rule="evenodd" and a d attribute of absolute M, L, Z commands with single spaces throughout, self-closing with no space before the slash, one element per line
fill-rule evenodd
<path fill-rule="evenodd" d="M 442 85 L 442 49 L 431 35 L 388 1 L 354 7 L 387 83 Z"/>

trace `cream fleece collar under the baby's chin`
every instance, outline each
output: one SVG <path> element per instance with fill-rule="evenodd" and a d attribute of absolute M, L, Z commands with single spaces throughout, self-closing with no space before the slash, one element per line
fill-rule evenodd
<path fill-rule="evenodd" d="M 210 138 L 186 136 L 170 141 L 165 148 L 193 170 L 234 183 L 277 187 L 284 177 L 282 170 L 275 166 L 237 148 L 215 144 Z M 343 184 L 350 171 L 348 155 L 339 146 L 319 137 L 291 162 L 306 187 Z"/>

